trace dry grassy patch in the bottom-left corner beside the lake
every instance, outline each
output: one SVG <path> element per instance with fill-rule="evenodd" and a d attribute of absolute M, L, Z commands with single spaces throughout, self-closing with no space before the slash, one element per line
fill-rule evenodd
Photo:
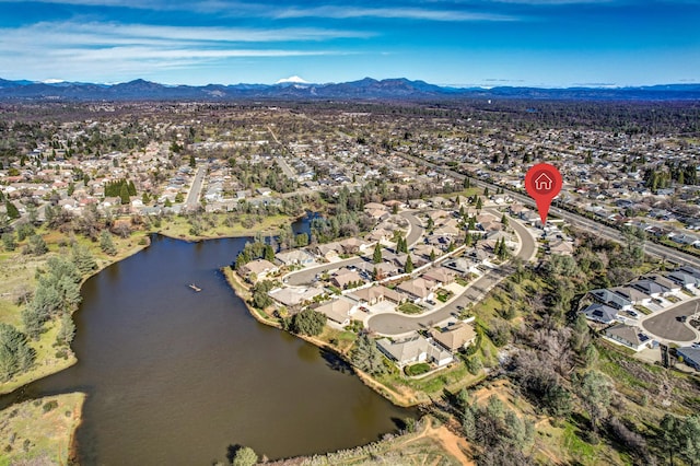
<path fill-rule="evenodd" d="M 0 412 L 0 466 L 68 464 L 85 395 L 23 401 Z"/>

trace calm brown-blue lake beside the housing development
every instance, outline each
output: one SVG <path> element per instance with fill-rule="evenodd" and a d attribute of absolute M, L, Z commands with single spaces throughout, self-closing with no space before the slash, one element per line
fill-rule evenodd
<path fill-rule="evenodd" d="M 84 284 L 79 363 L 23 392 L 89 394 L 82 464 L 208 465 L 231 444 L 270 458 L 335 451 L 412 415 L 329 354 L 249 316 L 219 271 L 244 243 L 153 236 Z"/>

